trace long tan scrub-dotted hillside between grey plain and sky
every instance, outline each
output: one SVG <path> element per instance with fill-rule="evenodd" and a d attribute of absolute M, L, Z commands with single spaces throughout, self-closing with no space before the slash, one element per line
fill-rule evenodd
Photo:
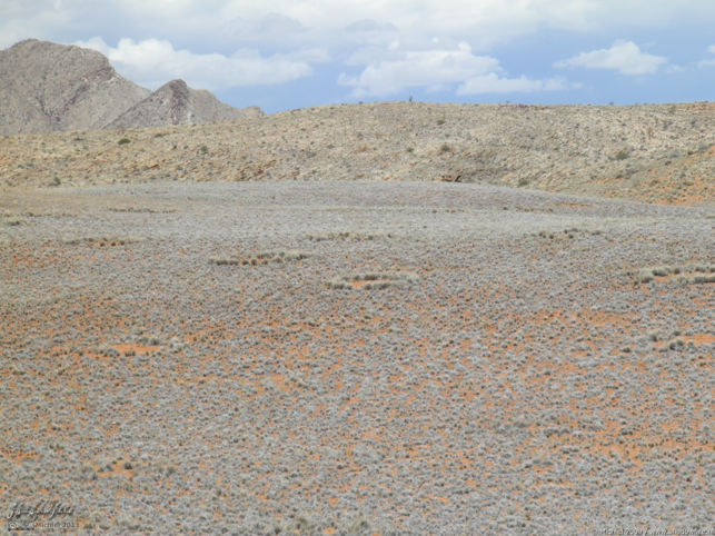
<path fill-rule="evenodd" d="M 715 103 L 385 102 L 0 139 L 3 186 L 266 179 L 484 182 L 707 204 L 715 193 Z"/>

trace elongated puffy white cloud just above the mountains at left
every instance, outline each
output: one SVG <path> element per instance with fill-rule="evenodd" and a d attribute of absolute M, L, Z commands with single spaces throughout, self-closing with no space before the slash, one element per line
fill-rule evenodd
<path fill-rule="evenodd" d="M 166 40 L 136 42 L 121 39 L 110 47 L 95 37 L 75 44 L 103 53 L 112 66 L 130 80 L 149 88 L 182 78 L 195 88 L 217 90 L 252 85 L 285 83 L 312 73 L 310 62 L 327 61 L 325 50 L 311 49 L 292 54 L 261 56 L 256 50 L 238 50 L 231 56 L 196 54 L 175 50 Z"/>

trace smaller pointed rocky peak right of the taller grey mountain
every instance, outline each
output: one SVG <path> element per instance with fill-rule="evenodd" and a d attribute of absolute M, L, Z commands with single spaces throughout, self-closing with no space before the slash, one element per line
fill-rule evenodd
<path fill-rule="evenodd" d="M 220 102 L 206 90 L 189 88 L 183 80 L 172 80 L 123 112 L 108 129 L 197 125 L 259 117 L 260 108 L 237 109 Z"/>

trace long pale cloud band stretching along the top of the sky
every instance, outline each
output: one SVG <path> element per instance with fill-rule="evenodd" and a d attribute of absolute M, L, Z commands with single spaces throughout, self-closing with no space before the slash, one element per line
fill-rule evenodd
<path fill-rule="evenodd" d="M 61 17 L 37 17 L 46 12 Z M 375 44 L 397 32 L 408 48 L 436 36 L 487 50 L 540 30 L 663 29 L 713 17 L 712 0 L 1 0 L 0 21 L 7 22 L 0 22 L 0 39 L 72 32 L 66 40 L 152 37 L 192 50 L 210 43 L 224 51 L 240 42 L 279 49 L 280 42 L 288 39 L 294 46 L 296 39 L 334 50 L 356 39 Z"/>

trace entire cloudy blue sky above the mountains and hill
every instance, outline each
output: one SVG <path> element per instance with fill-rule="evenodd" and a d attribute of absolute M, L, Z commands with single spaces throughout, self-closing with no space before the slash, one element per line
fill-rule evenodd
<path fill-rule="evenodd" d="M 102 52 L 265 112 L 340 102 L 715 100 L 715 0 L 0 0 L 0 49 Z"/>

